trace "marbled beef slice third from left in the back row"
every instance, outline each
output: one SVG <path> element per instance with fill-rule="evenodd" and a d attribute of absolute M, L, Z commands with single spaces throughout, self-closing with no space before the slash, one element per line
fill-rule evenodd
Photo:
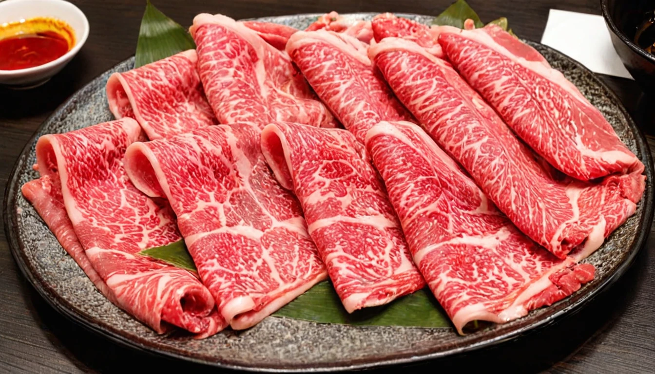
<path fill-rule="evenodd" d="M 333 31 L 299 31 L 286 48 L 316 94 L 364 143 L 377 122 L 411 119 L 366 55 L 366 45 Z"/>

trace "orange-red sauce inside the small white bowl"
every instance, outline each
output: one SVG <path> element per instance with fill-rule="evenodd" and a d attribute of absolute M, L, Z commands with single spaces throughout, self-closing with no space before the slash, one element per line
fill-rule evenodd
<path fill-rule="evenodd" d="M 0 28 L 0 70 L 46 64 L 63 56 L 74 45 L 70 26 L 60 20 L 32 18 L 3 26 Z"/>

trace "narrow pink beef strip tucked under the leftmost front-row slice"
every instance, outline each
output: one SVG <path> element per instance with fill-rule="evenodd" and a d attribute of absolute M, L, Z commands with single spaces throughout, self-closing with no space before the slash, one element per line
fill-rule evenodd
<path fill-rule="evenodd" d="M 86 257 L 84 248 L 77 239 L 73 223 L 68 218 L 62 196 L 62 186 L 59 178 L 43 176 L 25 183 L 21 188 L 23 196 L 34 206 L 34 209 L 41 216 L 50 231 L 62 244 L 62 248 L 82 268 L 86 276 L 109 301 L 116 303 L 116 297 L 102 276 L 93 269 L 92 263 Z"/>

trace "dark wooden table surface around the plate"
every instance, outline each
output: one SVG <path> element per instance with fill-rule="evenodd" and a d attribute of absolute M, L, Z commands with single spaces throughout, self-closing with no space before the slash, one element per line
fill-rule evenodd
<path fill-rule="evenodd" d="M 86 45 L 45 86 L 27 91 L 0 88 L 0 183 L 37 126 L 68 96 L 109 67 L 134 54 L 143 0 L 72 0 L 86 14 Z M 189 26 L 199 12 L 250 18 L 307 12 L 414 12 L 438 14 L 451 0 L 155 0 L 162 12 Z M 483 21 L 506 16 L 515 33 L 540 41 L 549 9 L 600 14 L 599 0 L 470 0 Z M 646 134 L 655 135 L 652 104 L 633 81 L 601 77 L 620 96 Z M 655 149 L 655 138 L 649 137 Z M 1 197 L 0 197 L 1 198 Z M 0 233 L 0 373 L 96 373 L 147 370 L 216 372 L 134 352 L 76 326 L 58 314 L 20 274 Z M 514 372 L 654 373 L 655 234 L 634 265 L 584 309 L 544 331 L 494 348 L 422 364 L 443 373 Z M 411 367 L 411 370 L 419 367 Z"/>

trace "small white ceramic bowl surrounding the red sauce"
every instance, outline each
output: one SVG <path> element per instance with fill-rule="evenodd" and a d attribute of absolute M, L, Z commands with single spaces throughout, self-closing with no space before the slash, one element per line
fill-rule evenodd
<path fill-rule="evenodd" d="M 0 1 L 0 24 L 33 17 L 52 17 L 67 22 L 75 31 L 75 45 L 64 56 L 46 64 L 18 70 L 0 70 L 0 84 L 13 88 L 31 88 L 46 83 L 59 73 L 82 48 L 88 37 L 88 20 L 82 10 L 64 0 Z"/>

